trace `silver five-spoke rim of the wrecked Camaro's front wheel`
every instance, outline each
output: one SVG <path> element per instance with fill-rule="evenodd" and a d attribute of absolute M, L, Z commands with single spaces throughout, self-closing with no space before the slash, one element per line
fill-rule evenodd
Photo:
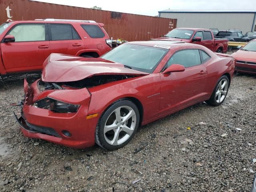
<path fill-rule="evenodd" d="M 104 125 L 104 138 L 110 145 L 126 142 L 136 127 L 136 113 L 130 106 L 116 108 Z"/>

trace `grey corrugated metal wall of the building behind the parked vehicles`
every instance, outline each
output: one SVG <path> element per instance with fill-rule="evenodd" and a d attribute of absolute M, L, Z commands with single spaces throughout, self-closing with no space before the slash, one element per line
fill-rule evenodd
<path fill-rule="evenodd" d="M 177 28 L 236 28 L 246 33 L 252 29 L 254 13 L 160 13 L 160 17 L 178 19 Z"/>

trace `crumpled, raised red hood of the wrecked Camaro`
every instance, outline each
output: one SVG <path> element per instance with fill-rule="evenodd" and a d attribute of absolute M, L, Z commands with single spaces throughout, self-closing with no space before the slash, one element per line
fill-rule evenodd
<path fill-rule="evenodd" d="M 148 73 L 125 68 L 123 64 L 102 58 L 82 58 L 53 53 L 43 64 L 42 80 L 44 82 L 72 82 L 105 74 L 147 75 Z"/>

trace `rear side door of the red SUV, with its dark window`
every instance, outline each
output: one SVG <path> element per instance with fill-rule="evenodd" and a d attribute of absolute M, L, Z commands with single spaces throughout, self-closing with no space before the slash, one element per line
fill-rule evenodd
<path fill-rule="evenodd" d="M 76 55 L 84 49 L 84 42 L 70 24 L 48 24 L 50 52 Z"/>

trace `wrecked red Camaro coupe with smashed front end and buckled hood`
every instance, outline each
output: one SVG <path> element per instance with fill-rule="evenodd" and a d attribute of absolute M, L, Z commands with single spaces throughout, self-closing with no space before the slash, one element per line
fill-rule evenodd
<path fill-rule="evenodd" d="M 100 58 L 51 54 L 42 78 L 24 80 L 23 134 L 65 146 L 115 150 L 138 126 L 198 102 L 226 98 L 234 59 L 160 40 L 129 42 Z"/>

